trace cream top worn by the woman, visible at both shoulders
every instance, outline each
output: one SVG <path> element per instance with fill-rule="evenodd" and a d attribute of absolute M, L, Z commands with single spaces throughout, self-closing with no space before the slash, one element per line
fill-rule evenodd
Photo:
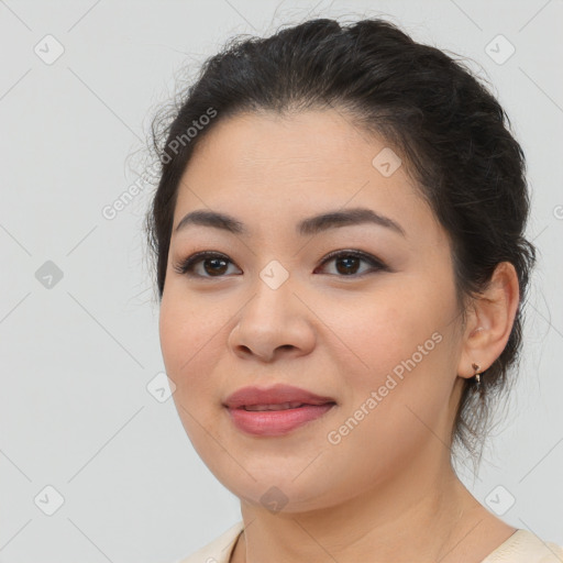
<path fill-rule="evenodd" d="M 241 520 L 188 558 L 174 563 L 229 563 L 243 529 Z M 563 548 L 518 529 L 481 563 L 563 563 Z"/>

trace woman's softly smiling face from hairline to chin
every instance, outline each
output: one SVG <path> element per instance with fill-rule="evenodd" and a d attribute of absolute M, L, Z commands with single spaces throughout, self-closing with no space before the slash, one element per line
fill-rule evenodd
<path fill-rule="evenodd" d="M 198 454 L 250 503 L 323 508 L 449 460 L 463 345 L 450 246 L 396 158 L 334 110 L 240 114 L 213 125 L 181 178 L 164 362 Z M 387 219 L 310 220 L 360 208 Z M 244 231 L 176 231 L 194 211 Z M 220 256 L 176 269 L 202 251 Z M 292 410 L 323 412 L 298 427 L 289 411 L 233 422 L 233 391 L 277 384 L 333 405 Z"/>

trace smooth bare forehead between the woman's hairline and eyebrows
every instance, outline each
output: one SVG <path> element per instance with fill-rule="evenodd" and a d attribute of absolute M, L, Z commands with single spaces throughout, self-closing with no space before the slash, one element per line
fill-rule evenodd
<path fill-rule="evenodd" d="M 291 227 L 298 218 L 345 207 L 368 207 L 420 228 L 434 222 L 385 140 L 339 111 L 243 113 L 212 128 L 181 177 L 174 228 L 194 209 L 250 223 L 284 218 Z M 395 167 L 391 174 L 382 174 L 382 158 Z"/>

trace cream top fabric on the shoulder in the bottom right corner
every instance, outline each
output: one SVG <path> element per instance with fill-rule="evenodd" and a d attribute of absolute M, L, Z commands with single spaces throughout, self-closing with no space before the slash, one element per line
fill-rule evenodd
<path fill-rule="evenodd" d="M 561 563 L 563 548 L 519 529 L 482 563 Z"/>

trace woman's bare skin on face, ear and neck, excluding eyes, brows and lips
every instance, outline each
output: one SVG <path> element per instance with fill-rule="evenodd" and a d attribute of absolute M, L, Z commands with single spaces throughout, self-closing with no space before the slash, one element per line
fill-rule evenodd
<path fill-rule="evenodd" d="M 159 333 L 173 397 L 196 451 L 241 499 L 245 531 L 232 562 L 478 563 L 516 529 L 456 477 L 450 435 L 472 362 L 486 369 L 507 343 L 516 272 L 497 267 L 463 325 L 446 232 L 405 166 L 385 177 L 372 165 L 385 141 L 344 115 L 238 114 L 197 146 L 173 229 L 203 209 L 234 216 L 251 234 L 190 225 L 172 238 Z M 351 207 L 391 218 L 406 236 L 374 224 L 295 233 L 301 219 Z M 175 272 L 203 250 L 229 257 L 220 277 L 209 261 L 195 269 L 207 277 Z M 341 260 L 322 265 L 335 250 L 362 250 L 391 271 L 360 262 L 346 275 Z M 289 273 L 277 289 L 260 277 L 273 260 Z M 330 443 L 328 433 L 434 332 L 440 343 Z M 338 405 L 283 437 L 238 430 L 222 401 L 242 386 L 274 383 Z M 279 511 L 261 503 L 273 486 L 287 500 Z"/>

